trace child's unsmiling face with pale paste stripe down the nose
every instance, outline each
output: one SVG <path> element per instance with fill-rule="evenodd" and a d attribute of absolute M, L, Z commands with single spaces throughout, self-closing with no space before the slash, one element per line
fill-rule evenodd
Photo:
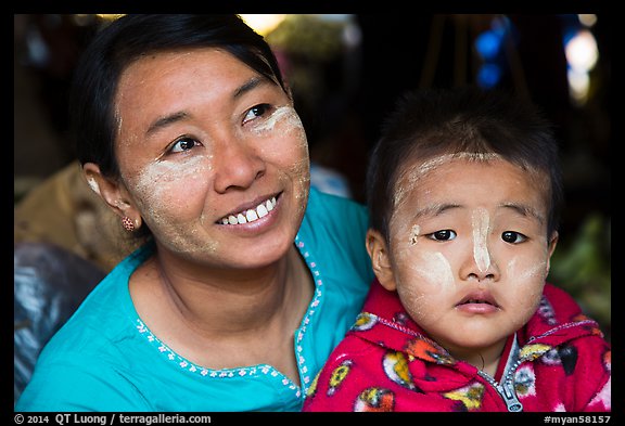
<path fill-rule="evenodd" d="M 535 312 L 557 234 L 547 179 L 499 158 L 409 162 L 377 274 L 451 353 L 502 346 Z"/>

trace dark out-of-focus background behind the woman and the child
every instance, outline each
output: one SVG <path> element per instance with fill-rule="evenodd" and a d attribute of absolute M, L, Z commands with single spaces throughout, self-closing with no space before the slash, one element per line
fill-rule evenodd
<path fill-rule="evenodd" d="M 14 15 L 15 244 L 54 244 L 104 272 L 128 248 L 104 233 L 106 214 L 77 178 L 66 100 L 80 52 L 116 16 Z M 369 150 L 403 91 L 479 85 L 538 104 L 557 126 L 566 196 L 549 280 L 611 338 L 609 16 L 242 16 L 266 37 L 293 88 L 312 184 L 359 202 Z"/>

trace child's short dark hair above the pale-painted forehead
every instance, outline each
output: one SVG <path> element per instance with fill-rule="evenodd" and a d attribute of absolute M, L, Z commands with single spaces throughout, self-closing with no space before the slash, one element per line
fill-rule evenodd
<path fill-rule="evenodd" d="M 386 117 L 367 170 L 370 227 L 388 240 L 401 166 L 446 154 L 498 154 L 549 177 L 548 236 L 563 203 L 558 144 L 551 124 L 526 100 L 474 87 L 407 92 Z"/>

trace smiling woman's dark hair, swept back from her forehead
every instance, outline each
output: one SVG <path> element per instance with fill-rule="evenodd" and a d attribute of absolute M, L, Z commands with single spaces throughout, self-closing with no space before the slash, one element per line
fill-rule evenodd
<path fill-rule="evenodd" d="M 124 15 L 94 37 L 75 72 L 69 114 L 80 164 L 119 175 L 114 98 L 122 73 L 143 55 L 191 48 L 222 49 L 289 93 L 271 49 L 238 15 Z"/>

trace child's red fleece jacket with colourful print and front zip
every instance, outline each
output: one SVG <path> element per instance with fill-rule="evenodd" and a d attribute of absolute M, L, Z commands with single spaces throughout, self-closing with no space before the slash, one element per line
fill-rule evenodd
<path fill-rule="evenodd" d="M 564 291 L 508 339 L 495 377 L 428 338 L 374 282 L 310 386 L 304 411 L 610 411 L 611 347 Z"/>

